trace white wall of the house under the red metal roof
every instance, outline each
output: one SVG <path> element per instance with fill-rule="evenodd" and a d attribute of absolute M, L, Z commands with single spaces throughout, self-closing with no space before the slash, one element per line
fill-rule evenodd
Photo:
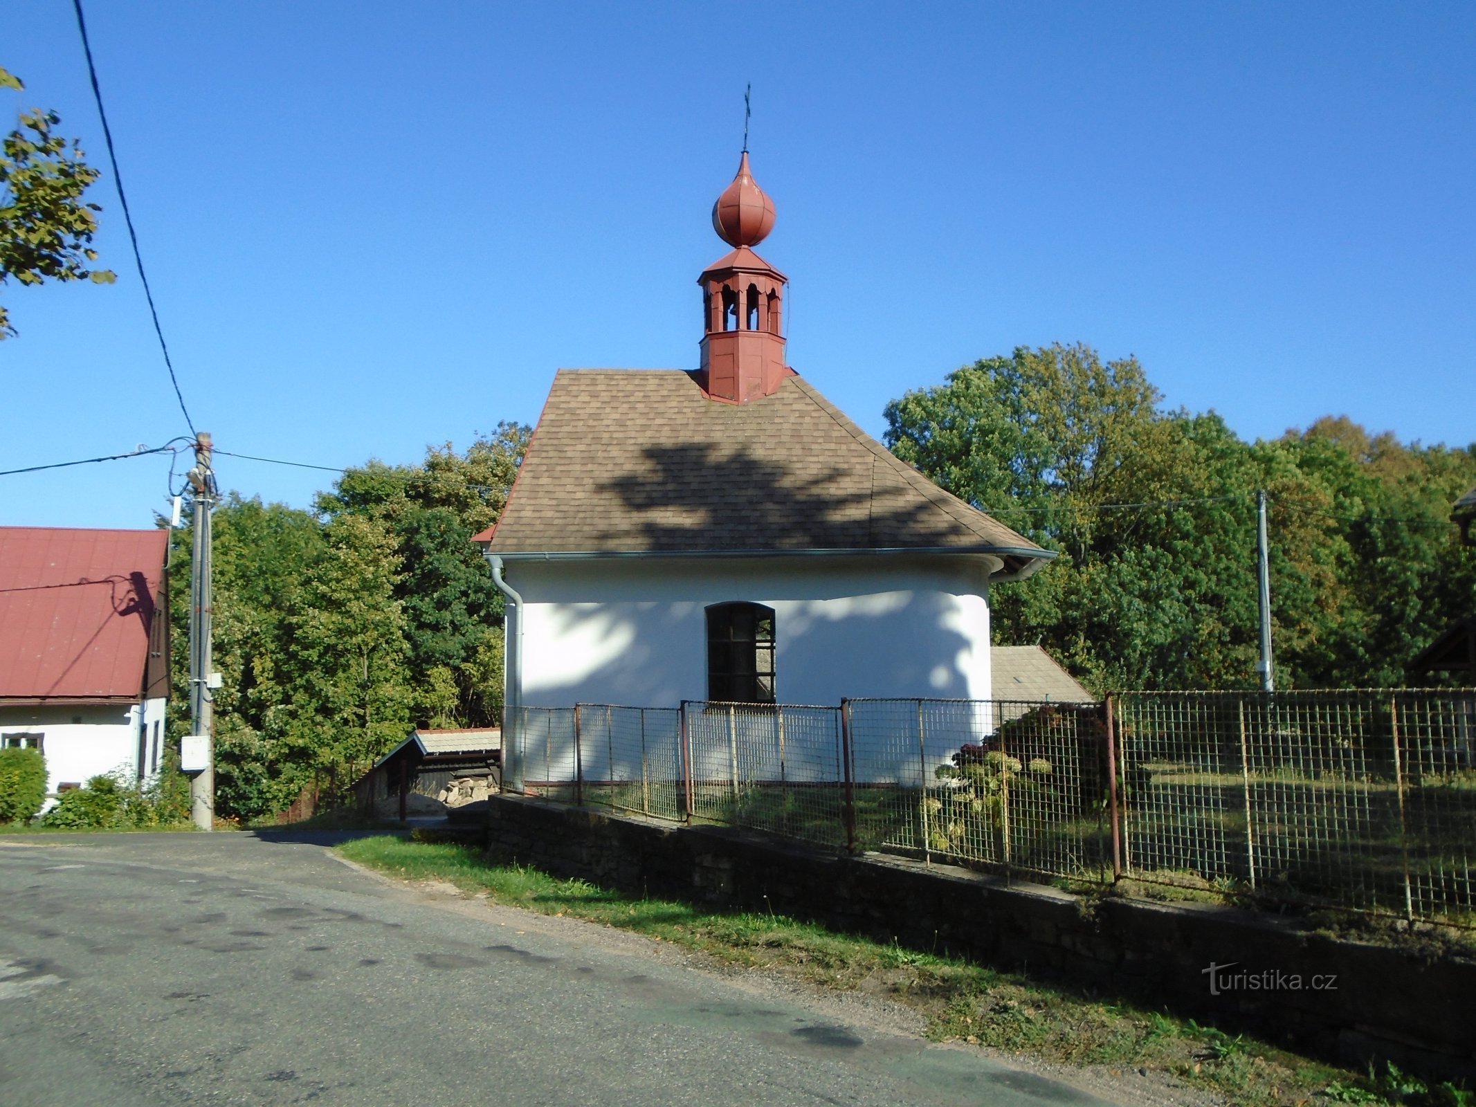
<path fill-rule="evenodd" d="M 93 776 L 121 773 L 127 779 L 162 765 L 164 700 L 139 704 L 0 707 L 0 735 L 40 734 L 46 759 L 46 791 L 62 784 L 86 784 Z M 50 804 L 47 804 L 50 806 Z"/>

